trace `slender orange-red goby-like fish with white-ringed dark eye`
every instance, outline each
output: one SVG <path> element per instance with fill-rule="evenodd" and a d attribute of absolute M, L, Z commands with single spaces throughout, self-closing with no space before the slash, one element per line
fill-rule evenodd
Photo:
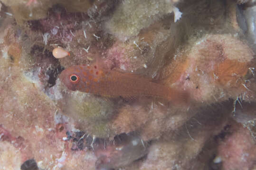
<path fill-rule="evenodd" d="M 175 102 L 188 100 L 188 93 L 184 91 L 154 83 L 136 74 L 99 69 L 96 65 L 67 68 L 61 72 L 60 80 L 69 90 L 105 97 L 152 96 Z"/>

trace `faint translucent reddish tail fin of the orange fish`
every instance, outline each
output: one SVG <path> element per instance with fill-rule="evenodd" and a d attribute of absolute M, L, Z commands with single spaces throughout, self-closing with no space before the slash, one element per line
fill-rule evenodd
<path fill-rule="evenodd" d="M 178 90 L 175 88 L 171 88 L 169 93 L 169 99 L 174 104 L 189 104 L 190 93 L 185 90 Z"/>

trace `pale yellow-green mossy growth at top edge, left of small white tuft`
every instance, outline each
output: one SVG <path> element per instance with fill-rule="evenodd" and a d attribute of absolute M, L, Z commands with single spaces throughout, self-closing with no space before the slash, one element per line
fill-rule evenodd
<path fill-rule="evenodd" d="M 124 0 L 105 26 L 110 34 L 125 41 L 172 11 L 172 3 L 165 0 Z"/>

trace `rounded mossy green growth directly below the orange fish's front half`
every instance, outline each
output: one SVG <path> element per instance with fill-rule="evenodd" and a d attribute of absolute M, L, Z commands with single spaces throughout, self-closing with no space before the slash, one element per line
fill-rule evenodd
<path fill-rule="evenodd" d="M 75 120 L 76 127 L 91 136 L 114 136 L 114 130 L 109 126 L 114 115 L 112 101 L 78 91 L 65 98 L 63 113 Z"/>

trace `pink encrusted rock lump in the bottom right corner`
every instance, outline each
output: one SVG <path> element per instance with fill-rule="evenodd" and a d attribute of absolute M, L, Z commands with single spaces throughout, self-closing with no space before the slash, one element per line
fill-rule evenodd
<path fill-rule="evenodd" d="M 218 157 L 224 170 L 253 170 L 255 168 L 255 138 L 241 124 L 231 127 L 232 134 L 225 136 L 218 146 Z"/>

